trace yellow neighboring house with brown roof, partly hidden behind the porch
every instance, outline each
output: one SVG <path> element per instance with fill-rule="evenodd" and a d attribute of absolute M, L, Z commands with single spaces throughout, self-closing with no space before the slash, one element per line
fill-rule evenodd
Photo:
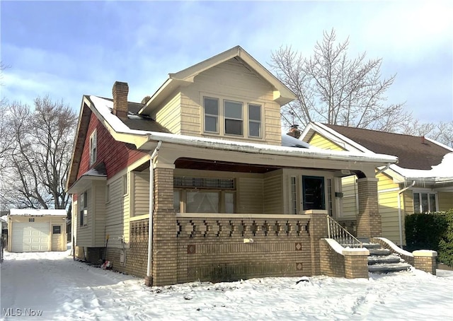
<path fill-rule="evenodd" d="M 413 213 L 447 211 L 453 208 L 453 149 L 420 136 L 358 129 L 311 122 L 300 138 L 326 150 L 361 152 L 372 156 L 386 153 L 397 164 L 377 168 L 379 213 L 382 236 L 406 244 L 404 217 Z M 353 228 L 358 213 L 357 182 L 343 177 L 343 197 L 336 219 Z"/>

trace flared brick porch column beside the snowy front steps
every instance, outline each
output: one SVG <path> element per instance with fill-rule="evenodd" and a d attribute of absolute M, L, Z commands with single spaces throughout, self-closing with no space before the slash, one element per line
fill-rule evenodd
<path fill-rule="evenodd" d="M 374 177 L 357 180 L 359 197 L 357 238 L 373 238 L 382 235 L 381 214 L 377 203 L 377 181 Z"/>

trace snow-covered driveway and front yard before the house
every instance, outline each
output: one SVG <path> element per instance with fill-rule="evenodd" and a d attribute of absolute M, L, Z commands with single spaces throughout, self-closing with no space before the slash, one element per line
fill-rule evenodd
<path fill-rule="evenodd" d="M 452 320 L 453 315 L 453 272 L 443 270 L 437 276 L 413 271 L 368 280 L 314 276 L 148 288 L 142 279 L 75 262 L 69 252 L 5 252 L 0 280 L 1 320 Z"/>

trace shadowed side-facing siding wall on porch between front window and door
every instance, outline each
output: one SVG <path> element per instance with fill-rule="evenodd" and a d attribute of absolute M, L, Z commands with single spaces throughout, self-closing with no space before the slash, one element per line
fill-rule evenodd
<path fill-rule="evenodd" d="M 282 170 L 264 175 L 264 214 L 283 214 Z"/>

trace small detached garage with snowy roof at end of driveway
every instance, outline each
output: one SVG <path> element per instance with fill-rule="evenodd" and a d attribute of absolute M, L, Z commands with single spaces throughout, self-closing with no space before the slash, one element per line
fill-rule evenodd
<path fill-rule="evenodd" d="M 8 252 L 67 250 L 66 217 L 64 209 L 11 209 Z"/>

